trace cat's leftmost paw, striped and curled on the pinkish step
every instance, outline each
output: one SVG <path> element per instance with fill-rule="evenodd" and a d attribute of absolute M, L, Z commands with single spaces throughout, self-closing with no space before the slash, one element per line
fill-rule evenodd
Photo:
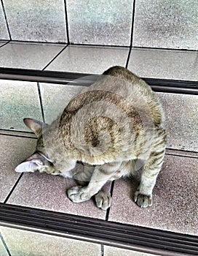
<path fill-rule="evenodd" d="M 86 187 L 72 187 L 68 189 L 67 194 L 68 198 L 74 203 L 81 203 L 90 199 L 86 193 Z"/>

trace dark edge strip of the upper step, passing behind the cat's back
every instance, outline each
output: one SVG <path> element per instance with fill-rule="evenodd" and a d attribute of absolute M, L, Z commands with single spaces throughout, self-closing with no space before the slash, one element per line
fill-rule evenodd
<path fill-rule="evenodd" d="M 57 72 L 47 70 L 33 69 L 9 69 L 0 68 L 0 79 L 7 80 L 25 80 L 43 83 L 61 83 L 87 86 L 95 80 L 99 75 L 73 73 L 73 72 Z M 188 80 L 169 80 L 158 78 L 143 78 L 154 91 L 176 93 L 176 94 L 198 94 L 198 82 Z"/>

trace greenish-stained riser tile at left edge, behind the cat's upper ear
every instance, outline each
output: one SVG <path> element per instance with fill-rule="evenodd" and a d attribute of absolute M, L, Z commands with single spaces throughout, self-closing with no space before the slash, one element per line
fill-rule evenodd
<path fill-rule="evenodd" d="M 23 118 L 42 120 L 36 83 L 0 80 L 0 128 L 28 131 Z"/>

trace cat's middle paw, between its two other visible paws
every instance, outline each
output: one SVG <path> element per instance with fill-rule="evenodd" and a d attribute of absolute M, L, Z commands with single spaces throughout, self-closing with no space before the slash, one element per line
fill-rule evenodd
<path fill-rule="evenodd" d="M 111 206 L 111 200 L 111 195 L 103 190 L 100 190 L 98 194 L 95 195 L 96 206 L 104 211 Z"/>

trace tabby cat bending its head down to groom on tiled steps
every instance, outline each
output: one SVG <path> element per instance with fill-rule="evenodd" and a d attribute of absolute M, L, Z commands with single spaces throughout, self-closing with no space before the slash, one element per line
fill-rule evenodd
<path fill-rule="evenodd" d="M 150 86 L 124 67 L 111 67 L 71 99 L 52 124 L 24 119 L 38 137 L 37 146 L 15 170 L 74 178 L 79 186 L 68 189 L 69 199 L 79 203 L 95 196 L 96 205 L 106 210 L 111 195 L 104 184 L 131 176 L 140 159 L 143 170 L 134 200 L 146 208 L 165 156 L 164 121 Z M 84 164 L 82 171 L 75 169 L 78 162 Z"/>

